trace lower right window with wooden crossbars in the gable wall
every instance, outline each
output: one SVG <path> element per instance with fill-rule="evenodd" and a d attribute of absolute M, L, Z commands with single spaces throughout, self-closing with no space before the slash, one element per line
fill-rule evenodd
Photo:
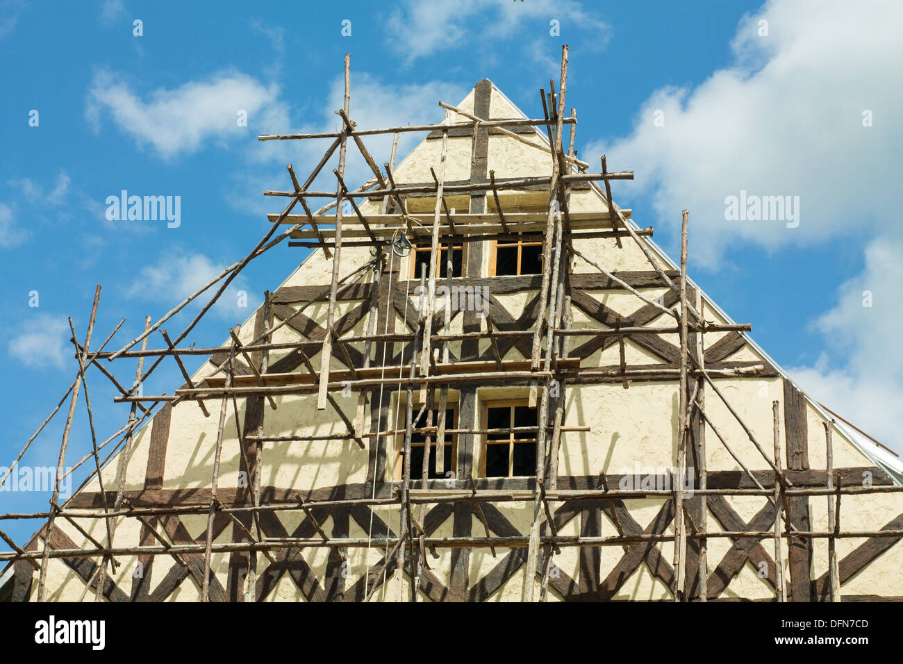
<path fill-rule="evenodd" d="M 487 429 L 536 426 L 536 409 L 525 401 L 489 403 L 483 408 Z M 536 432 L 518 431 L 483 436 L 483 477 L 531 477 L 536 474 Z"/>

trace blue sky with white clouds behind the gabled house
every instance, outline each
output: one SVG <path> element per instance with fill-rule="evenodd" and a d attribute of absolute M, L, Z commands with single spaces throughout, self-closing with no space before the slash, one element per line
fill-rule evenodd
<path fill-rule="evenodd" d="M 82 337 L 96 284 L 96 343 L 126 317 L 119 348 L 265 233 L 278 209 L 263 190 L 288 186 L 285 164 L 308 172 L 326 145 L 256 136 L 337 128 L 344 53 L 351 116 L 389 126 L 441 120 L 437 102 L 482 78 L 536 117 L 563 43 L 580 155 L 636 172 L 616 200 L 673 256 L 691 210 L 691 276 L 817 399 L 903 452 L 900 14 L 877 2 L 0 0 L 0 466 L 73 378 L 66 317 Z M 387 158 L 385 143 L 371 148 Z M 366 179 L 359 163 L 349 173 Z M 181 224 L 107 220 L 122 190 L 181 196 Z M 725 220 L 741 190 L 799 196 L 798 227 Z M 303 257 L 285 246 L 252 263 L 188 342 L 221 342 L 250 311 L 237 290 L 253 307 Z M 186 312 L 164 327 L 181 331 L 197 308 Z M 170 364 L 145 392 L 181 383 Z M 103 440 L 127 409 L 99 375 L 89 387 Z M 77 412 L 70 461 L 90 449 L 83 401 Z M 23 463 L 55 463 L 64 416 Z M 43 494 L 0 495 L 4 511 L 46 508 Z M 5 529 L 24 538 L 33 524 Z"/>

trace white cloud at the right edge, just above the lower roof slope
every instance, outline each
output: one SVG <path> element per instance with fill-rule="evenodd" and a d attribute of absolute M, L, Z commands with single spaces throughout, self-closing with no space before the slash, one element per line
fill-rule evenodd
<path fill-rule="evenodd" d="M 870 243 L 862 274 L 841 286 L 837 304 L 814 323 L 824 334 L 828 351 L 814 367 L 791 369 L 808 394 L 899 453 L 903 453 L 901 257 L 901 240 L 878 238 Z"/>

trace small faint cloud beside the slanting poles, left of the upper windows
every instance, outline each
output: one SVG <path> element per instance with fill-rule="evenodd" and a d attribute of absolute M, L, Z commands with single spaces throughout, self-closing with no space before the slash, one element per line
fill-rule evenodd
<path fill-rule="evenodd" d="M 126 297 L 141 298 L 163 304 L 181 302 L 188 295 L 218 276 L 226 264 L 220 264 L 203 254 L 182 247 L 168 249 L 156 263 L 141 268 L 135 281 L 126 287 Z M 195 310 L 209 302 L 219 290 L 221 282 L 209 287 L 190 305 Z M 240 292 L 247 294 L 247 306 L 240 306 Z M 219 296 L 210 313 L 227 323 L 244 322 L 259 304 L 256 294 L 249 292 L 243 276 L 237 276 L 226 291 Z"/>

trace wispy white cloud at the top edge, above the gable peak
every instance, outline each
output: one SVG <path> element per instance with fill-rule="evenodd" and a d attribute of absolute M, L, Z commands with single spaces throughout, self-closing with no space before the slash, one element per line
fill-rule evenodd
<path fill-rule="evenodd" d="M 574 0 L 405 0 L 386 17 L 386 43 L 410 63 L 465 41 L 491 48 L 493 42 L 526 29 L 526 23 L 533 23 L 537 34 L 549 38 L 553 19 L 575 29 L 594 31 L 596 47 L 608 37 L 606 23 Z"/>

